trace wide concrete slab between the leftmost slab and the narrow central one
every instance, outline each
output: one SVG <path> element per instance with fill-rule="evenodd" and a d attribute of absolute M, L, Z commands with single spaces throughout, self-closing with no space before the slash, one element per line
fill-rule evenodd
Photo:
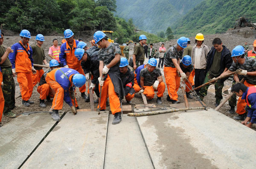
<path fill-rule="evenodd" d="M 108 115 L 67 113 L 21 168 L 102 169 Z"/>

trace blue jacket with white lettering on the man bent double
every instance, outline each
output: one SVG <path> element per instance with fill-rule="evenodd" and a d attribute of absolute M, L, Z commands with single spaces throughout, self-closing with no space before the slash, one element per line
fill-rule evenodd
<path fill-rule="evenodd" d="M 62 72 L 66 75 L 64 75 Z M 55 72 L 55 80 L 58 82 L 58 84 L 61 85 L 61 87 L 64 89 L 64 101 L 71 107 L 73 106 L 70 94 L 69 94 L 69 87 L 70 87 L 70 80 L 69 77 L 73 74 L 79 73 L 76 70 L 70 69 L 70 68 L 60 68 Z M 75 88 L 75 86 L 74 86 Z M 73 89 L 71 89 L 73 90 Z"/>

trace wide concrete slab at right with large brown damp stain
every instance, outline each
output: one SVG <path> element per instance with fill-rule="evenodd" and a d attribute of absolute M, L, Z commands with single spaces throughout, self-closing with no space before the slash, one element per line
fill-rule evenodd
<path fill-rule="evenodd" d="M 256 168 L 256 132 L 215 110 L 137 119 L 155 168 Z"/>

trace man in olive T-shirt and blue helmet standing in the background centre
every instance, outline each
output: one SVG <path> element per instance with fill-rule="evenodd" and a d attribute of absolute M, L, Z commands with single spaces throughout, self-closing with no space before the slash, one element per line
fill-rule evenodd
<path fill-rule="evenodd" d="M 147 37 L 145 35 L 140 35 L 139 43 L 134 47 L 134 54 L 132 55 L 132 60 L 134 64 L 134 70 L 136 70 L 140 65 L 143 65 L 145 60 L 145 50 L 143 45 L 147 43 Z"/>

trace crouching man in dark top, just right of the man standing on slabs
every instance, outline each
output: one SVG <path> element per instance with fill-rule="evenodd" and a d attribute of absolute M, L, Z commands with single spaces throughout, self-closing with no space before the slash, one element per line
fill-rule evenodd
<path fill-rule="evenodd" d="M 122 84 L 125 90 L 125 100 L 128 104 L 131 104 L 131 99 L 134 98 L 135 90 L 134 85 L 134 73 L 128 68 L 128 60 L 124 57 L 120 59 L 120 76 Z"/>

